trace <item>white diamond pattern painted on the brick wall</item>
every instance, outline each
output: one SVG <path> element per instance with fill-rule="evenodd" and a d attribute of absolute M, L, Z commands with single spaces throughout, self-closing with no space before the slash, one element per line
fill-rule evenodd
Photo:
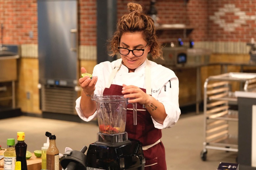
<path fill-rule="evenodd" d="M 234 16 L 239 16 L 239 18 L 234 19 L 233 23 L 228 23 L 225 21 L 225 19 L 222 19 L 226 13 L 234 13 Z M 240 8 L 236 8 L 235 4 L 225 4 L 224 8 L 219 8 L 218 12 L 215 12 L 214 15 L 209 16 L 209 18 L 225 31 L 231 32 L 235 31 L 235 28 L 241 27 L 242 24 L 246 24 L 246 20 L 255 20 L 256 15 L 246 15 L 245 11 L 241 11 Z"/>

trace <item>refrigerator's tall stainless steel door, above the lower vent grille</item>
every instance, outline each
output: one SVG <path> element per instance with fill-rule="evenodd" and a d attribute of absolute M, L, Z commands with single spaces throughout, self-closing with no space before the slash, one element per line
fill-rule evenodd
<path fill-rule="evenodd" d="M 77 85 L 77 1 L 38 0 L 39 83 Z"/>

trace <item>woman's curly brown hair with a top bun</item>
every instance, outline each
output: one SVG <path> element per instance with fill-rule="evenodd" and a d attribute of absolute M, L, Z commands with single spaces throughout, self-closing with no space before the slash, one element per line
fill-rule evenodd
<path fill-rule="evenodd" d="M 149 53 L 153 59 L 162 58 L 162 47 L 157 41 L 156 28 L 153 19 L 142 13 L 142 7 L 138 3 L 129 2 L 127 4 L 130 13 L 124 14 L 117 23 L 117 29 L 109 41 L 109 55 L 114 56 L 118 53 L 118 42 L 125 32 L 142 32 L 144 40 L 151 47 Z"/>

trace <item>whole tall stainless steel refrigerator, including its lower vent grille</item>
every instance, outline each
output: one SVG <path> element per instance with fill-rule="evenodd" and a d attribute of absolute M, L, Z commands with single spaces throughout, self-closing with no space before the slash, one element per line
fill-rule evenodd
<path fill-rule="evenodd" d="M 40 109 L 76 114 L 78 37 L 76 0 L 38 0 Z M 61 117 L 61 116 L 57 116 Z"/>

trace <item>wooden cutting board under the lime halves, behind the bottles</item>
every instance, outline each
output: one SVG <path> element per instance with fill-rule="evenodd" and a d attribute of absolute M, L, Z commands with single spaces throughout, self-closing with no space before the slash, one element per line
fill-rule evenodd
<path fill-rule="evenodd" d="M 0 150 L 0 155 L 3 155 L 6 150 Z M 32 153 L 32 152 L 31 152 Z M 4 162 L 4 159 L 0 160 L 0 163 Z M 28 170 L 36 170 L 36 169 L 41 169 L 42 168 L 42 159 L 37 158 L 34 153 L 32 153 L 32 157 L 27 160 L 27 167 Z M 0 167 L 0 170 L 3 170 L 4 167 Z"/>

